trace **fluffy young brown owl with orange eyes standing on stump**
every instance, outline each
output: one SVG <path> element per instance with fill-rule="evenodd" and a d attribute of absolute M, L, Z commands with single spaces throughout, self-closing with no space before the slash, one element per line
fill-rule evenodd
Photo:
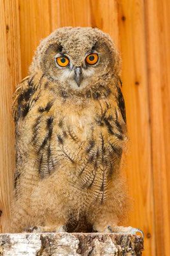
<path fill-rule="evenodd" d="M 97 28 L 41 41 L 13 95 L 15 199 L 11 232 L 118 232 L 128 196 L 120 56 Z"/>

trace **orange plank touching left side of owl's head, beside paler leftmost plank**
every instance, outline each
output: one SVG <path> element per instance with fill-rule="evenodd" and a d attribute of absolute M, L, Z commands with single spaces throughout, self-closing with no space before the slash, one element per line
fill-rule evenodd
<path fill-rule="evenodd" d="M 51 32 L 50 4 L 47 0 L 19 0 L 22 78 L 27 76 L 39 40 Z"/>

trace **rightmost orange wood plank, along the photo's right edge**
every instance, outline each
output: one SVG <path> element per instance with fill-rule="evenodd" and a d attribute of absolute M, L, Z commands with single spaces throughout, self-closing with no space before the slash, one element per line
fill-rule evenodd
<path fill-rule="evenodd" d="M 168 256 L 170 152 L 170 2 L 145 1 L 157 255 Z"/>

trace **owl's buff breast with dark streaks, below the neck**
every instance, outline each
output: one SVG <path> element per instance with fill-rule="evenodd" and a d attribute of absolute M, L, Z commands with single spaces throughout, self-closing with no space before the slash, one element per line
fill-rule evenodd
<path fill-rule="evenodd" d="M 104 200 L 125 135 L 118 111 L 105 101 L 92 103 L 82 108 L 57 102 L 48 111 L 36 109 L 29 143 L 41 179 L 64 175 L 76 188 L 96 191 L 93 195 Z"/>

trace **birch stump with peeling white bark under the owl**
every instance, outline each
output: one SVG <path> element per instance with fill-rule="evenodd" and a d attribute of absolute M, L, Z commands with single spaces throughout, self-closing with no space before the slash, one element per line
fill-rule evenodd
<path fill-rule="evenodd" d="M 2 256 L 141 255 L 143 237 L 103 233 L 0 234 Z"/>

